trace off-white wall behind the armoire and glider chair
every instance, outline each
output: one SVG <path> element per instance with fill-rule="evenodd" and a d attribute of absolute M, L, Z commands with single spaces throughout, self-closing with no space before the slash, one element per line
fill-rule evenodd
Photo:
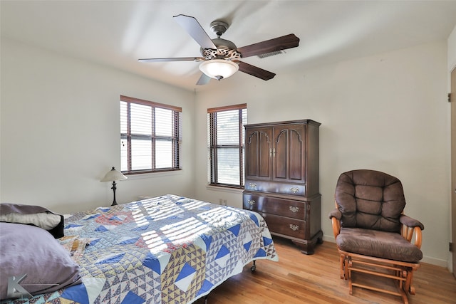
<path fill-rule="evenodd" d="M 274 60 L 274 59 L 273 59 Z M 279 60 L 279 57 L 276 58 Z M 248 122 L 312 119 L 320 127 L 321 221 L 333 241 L 328 213 L 338 176 L 377 169 L 403 182 L 405 213 L 423 221 L 423 261 L 447 266 L 450 236 L 447 44 L 432 43 L 366 58 L 299 68 L 272 80 L 237 73 L 197 93 L 197 196 L 242 206 L 241 192 L 214 192 L 206 182 L 206 109 L 247 103 Z"/>

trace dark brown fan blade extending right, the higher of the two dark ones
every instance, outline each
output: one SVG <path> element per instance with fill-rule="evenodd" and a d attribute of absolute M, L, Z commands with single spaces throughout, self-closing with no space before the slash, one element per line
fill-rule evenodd
<path fill-rule="evenodd" d="M 241 48 L 237 48 L 237 51 L 241 53 L 242 58 L 246 58 L 264 53 L 286 50 L 287 48 L 296 48 L 296 46 L 299 46 L 299 38 L 296 37 L 294 33 L 290 33 L 285 36 L 261 41 L 249 46 L 242 46 Z"/>

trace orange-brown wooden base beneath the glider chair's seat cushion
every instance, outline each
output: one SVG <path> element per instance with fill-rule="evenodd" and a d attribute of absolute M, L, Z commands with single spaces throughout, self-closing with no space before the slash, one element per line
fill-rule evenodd
<path fill-rule="evenodd" d="M 356 253 L 348 253 L 339 250 L 341 253 L 341 278 L 348 280 L 349 293 L 353 295 L 353 286 L 375 290 L 390 295 L 398 295 L 403 299 L 403 303 L 408 304 L 408 294 L 415 295 L 413 286 L 413 271 L 419 267 L 419 263 L 407 263 L 392 261 L 384 258 L 374 258 L 363 256 Z M 354 273 L 363 273 L 368 276 L 377 276 L 393 280 L 395 290 L 374 287 L 364 283 L 353 281 Z"/>

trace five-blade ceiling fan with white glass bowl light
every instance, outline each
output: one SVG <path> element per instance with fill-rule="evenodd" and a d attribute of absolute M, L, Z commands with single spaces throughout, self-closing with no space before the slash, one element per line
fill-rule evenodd
<path fill-rule="evenodd" d="M 182 26 L 193 39 L 201 46 L 200 52 L 202 57 L 177 57 L 177 58 L 143 58 L 140 62 L 166 62 L 166 61 L 196 61 L 202 62 L 199 64 L 199 69 L 202 70 L 202 75 L 199 78 L 197 85 L 205 85 L 209 83 L 211 78 L 221 80 L 228 78 L 240 70 L 241 72 L 269 80 L 274 78 L 276 74 L 263 70 L 257 66 L 250 65 L 239 61 L 239 58 L 247 58 L 250 56 L 268 56 L 274 53 L 280 53 L 281 50 L 287 48 L 296 48 L 299 46 L 299 38 L 293 33 L 286 36 L 273 38 L 259 43 L 254 43 L 249 46 L 237 46 L 226 39 L 220 38 L 227 31 L 229 25 L 224 21 L 213 21 L 210 27 L 217 38 L 211 39 L 199 24 L 197 19 L 192 16 L 177 15 L 172 17 L 177 23 Z"/>

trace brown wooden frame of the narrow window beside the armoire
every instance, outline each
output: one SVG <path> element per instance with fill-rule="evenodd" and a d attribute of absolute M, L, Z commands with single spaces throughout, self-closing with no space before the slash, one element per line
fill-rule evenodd
<path fill-rule="evenodd" d="M 239 110 L 238 116 L 238 132 L 239 132 L 239 144 L 238 145 L 218 145 L 217 144 L 217 113 L 225 112 L 230 110 Z M 207 109 L 207 126 L 208 126 L 208 147 L 207 147 L 207 162 L 208 162 L 208 184 L 209 186 L 214 187 L 227 187 L 235 189 L 244 189 L 244 151 L 245 151 L 245 142 L 244 134 L 245 129 L 244 125 L 247 124 L 247 121 L 243 121 L 242 111 L 246 111 L 247 118 L 247 103 L 242 103 L 238 105 L 227 105 L 217 108 L 208 108 Z M 246 119 L 247 120 L 247 119 Z M 220 183 L 219 172 L 217 168 L 217 149 L 222 148 L 238 148 L 239 149 L 239 184 L 226 184 Z"/>

